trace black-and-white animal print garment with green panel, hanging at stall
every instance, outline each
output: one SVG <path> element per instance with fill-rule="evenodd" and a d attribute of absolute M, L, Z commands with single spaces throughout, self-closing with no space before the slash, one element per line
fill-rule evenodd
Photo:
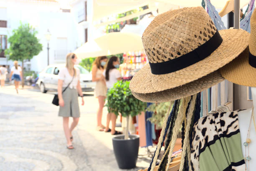
<path fill-rule="evenodd" d="M 235 136 L 233 136 L 235 135 Z M 238 136 L 239 135 L 239 136 Z M 236 137 L 239 140 L 236 140 L 238 143 L 233 145 L 233 142 L 225 144 L 225 140 L 229 137 Z M 221 139 L 222 138 L 222 139 Z M 214 153 L 212 148 L 215 144 L 222 143 L 221 148 L 217 148 L 220 153 Z M 223 143 L 224 142 L 224 143 Z M 216 143 L 216 144 L 217 144 Z M 211 146 L 213 145 L 213 146 Z M 212 148 L 212 149 L 211 149 Z M 206 117 L 200 118 L 197 123 L 195 123 L 192 131 L 192 147 L 191 147 L 191 164 L 192 171 L 244 171 L 245 163 L 243 160 L 243 153 L 241 150 L 241 137 L 240 130 L 238 124 L 238 111 L 233 112 L 221 112 L 210 114 Z M 231 153 L 230 152 L 231 149 Z M 233 160 L 232 150 L 236 151 L 236 161 Z M 205 152 L 204 152 L 205 151 Z M 200 162 L 200 155 L 202 153 L 207 153 L 206 151 L 210 151 L 210 157 L 208 159 L 202 158 Z M 212 155 L 212 156 L 211 156 Z M 221 156 L 222 155 L 222 156 Z M 203 156 L 203 155 L 202 155 Z M 228 157 L 226 157 L 228 156 Z M 220 162 L 218 162 L 218 158 L 227 158 L 227 161 L 223 161 L 225 169 L 220 167 Z M 211 161 L 211 159 L 213 159 Z M 216 159 L 216 160 L 215 160 Z M 241 159 L 241 161 L 240 161 Z M 203 166 L 202 166 L 203 165 Z M 215 166 L 215 169 L 212 170 Z M 218 170 L 216 170 L 218 168 Z"/>

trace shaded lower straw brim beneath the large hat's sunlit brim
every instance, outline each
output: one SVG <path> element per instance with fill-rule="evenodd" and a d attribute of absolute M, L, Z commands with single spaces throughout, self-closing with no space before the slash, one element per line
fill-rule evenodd
<path fill-rule="evenodd" d="M 190 96 L 192 94 L 196 94 L 198 92 L 202 92 L 204 89 L 212 87 L 212 85 L 218 84 L 225 80 L 221 77 L 219 70 L 208 74 L 205 77 L 197 79 L 193 82 L 188 84 L 184 84 L 179 87 L 175 87 L 173 89 L 167 89 L 161 92 L 155 93 L 136 93 L 132 92 L 133 96 L 136 97 L 138 100 L 143 102 L 170 102 L 172 100 L 181 99 L 183 97 Z"/>

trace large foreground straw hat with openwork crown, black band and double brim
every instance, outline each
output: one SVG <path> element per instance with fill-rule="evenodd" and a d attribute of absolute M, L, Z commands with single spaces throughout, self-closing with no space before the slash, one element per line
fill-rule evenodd
<path fill-rule="evenodd" d="M 223 80 L 217 70 L 244 51 L 248 37 L 240 29 L 217 31 L 202 7 L 160 14 L 143 33 L 149 64 L 136 73 L 130 89 L 135 97 L 146 94 L 143 101 L 148 101 L 160 94 L 175 100 L 185 97 L 178 93 L 188 96 L 211 87 Z"/>

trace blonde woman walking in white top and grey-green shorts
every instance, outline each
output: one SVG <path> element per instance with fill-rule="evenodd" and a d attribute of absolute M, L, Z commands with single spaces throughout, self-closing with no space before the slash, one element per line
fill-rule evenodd
<path fill-rule="evenodd" d="M 80 71 L 74 68 L 77 64 L 77 56 L 73 53 L 67 54 L 66 67 L 59 71 L 58 81 L 58 97 L 59 97 L 59 116 L 63 117 L 63 128 L 67 139 L 67 148 L 74 149 L 72 145 L 72 130 L 77 126 L 80 110 L 78 104 L 78 94 L 82 97 L 82 105 L 84 98 L 80 86 Z M 62 93 L 62 91 L 67 89 Z M 69 128 L 69 117 L 73 117 L 73 122 Z"/>

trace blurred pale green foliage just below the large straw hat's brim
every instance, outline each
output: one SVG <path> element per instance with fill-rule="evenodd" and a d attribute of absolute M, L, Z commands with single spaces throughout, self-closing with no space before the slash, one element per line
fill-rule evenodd
<path fill-rule="evenodd" d="M 146 110 L 148 112 L 153 112 L 152 117 L 149 117 L 148 120 L 161 128 L 164 123 L 164 117 L 168 112 L 169 106 L 170 102 L 153 103 L 152 105 L 148 106 Z"/>

